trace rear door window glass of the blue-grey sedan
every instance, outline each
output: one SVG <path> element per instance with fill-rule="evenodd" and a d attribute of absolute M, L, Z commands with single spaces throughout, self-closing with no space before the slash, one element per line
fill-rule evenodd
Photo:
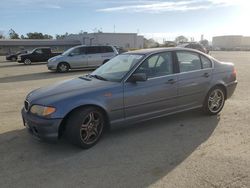
<path fill-rule="evenodd" d="M 199 55 L 193 52 L 176 52 L 180 72 L 189 72 L 201 69 Z"/>

